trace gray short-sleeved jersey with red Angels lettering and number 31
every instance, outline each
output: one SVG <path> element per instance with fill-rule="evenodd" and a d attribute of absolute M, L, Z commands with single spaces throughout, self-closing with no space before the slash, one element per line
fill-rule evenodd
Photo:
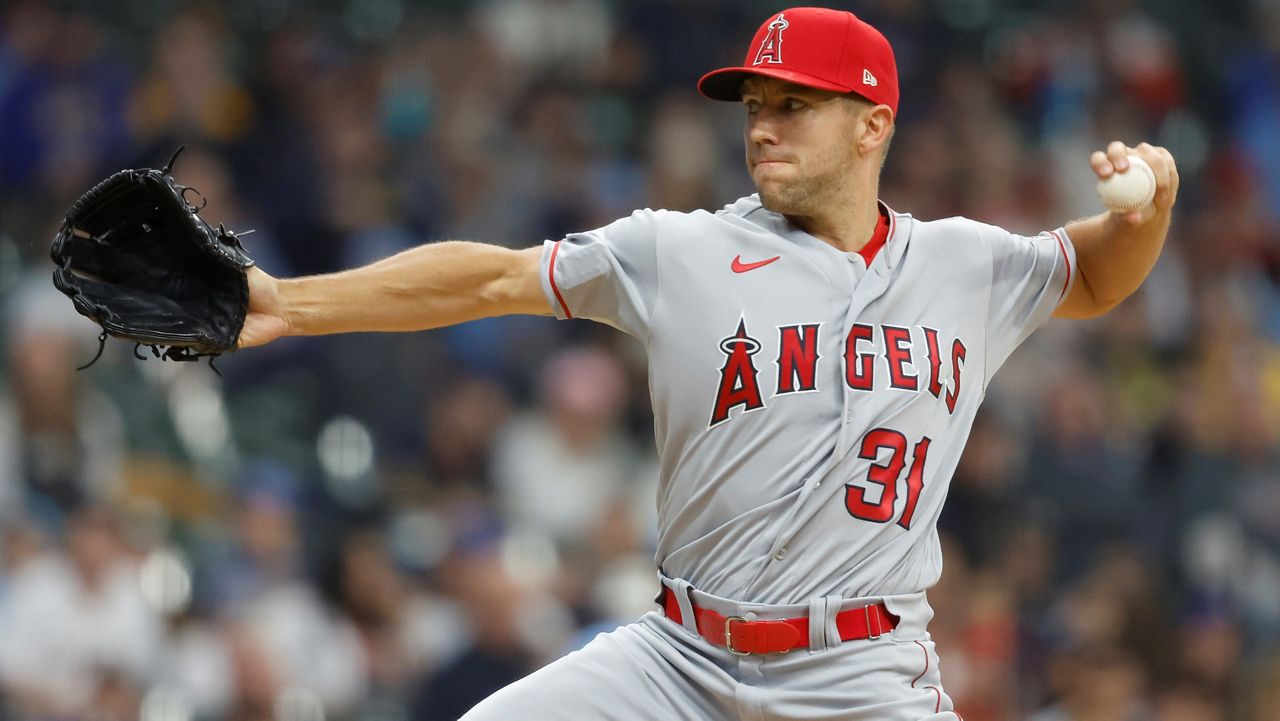
<path fill-rule="evenodd" d="M 749 196 L 548 241 L 558 318 L 639 338 L 660 465 L 660 570 L 794 604 L 922 592 L 992 375 L 1074 279 L 1061 228 L 890 228 L 868 264 Z"/>

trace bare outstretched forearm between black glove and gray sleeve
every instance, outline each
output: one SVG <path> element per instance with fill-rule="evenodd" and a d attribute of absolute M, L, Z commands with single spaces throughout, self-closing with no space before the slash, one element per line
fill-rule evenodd
<path fill-rule="evenodd" d="M 239 347 L 282 336 L 424 330 L 494 315 L 550 315 L 540 259 L 540 247 L 515 251 L 451 241 L 328 275 L 282 280 L 252 268 Z"/>

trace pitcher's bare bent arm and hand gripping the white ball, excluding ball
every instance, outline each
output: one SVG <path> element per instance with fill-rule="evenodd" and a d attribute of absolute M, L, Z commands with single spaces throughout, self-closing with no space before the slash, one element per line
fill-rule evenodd
<path fill-rule="evenodd" d="M 1094 318 L 1110 311 L 1142 286 L 1160 257 L 1178 198 L 1178 166 L 1164 147 L 1128 147 L 1120 141 L 1108 145 L 1106 152 L 1094 151 L 1089 164 L 1098 179 L 1105 179 L 1128 169 L 1128 155 L 1151 165 L 1156 197 L 1133 213 L 1105 213 L 1068 223 L 1079 275 L 1053 311 L 1055 318 Z"/>

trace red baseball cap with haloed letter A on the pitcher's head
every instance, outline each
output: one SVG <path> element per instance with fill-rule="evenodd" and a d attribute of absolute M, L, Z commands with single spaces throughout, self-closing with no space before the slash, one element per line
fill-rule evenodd
<path fill-rule="evenodd" d="M 897 115 L 893 49 L 878 29 L 844 10 L 782 10 L 755 31 L 741 67 L 707 73 L 698 81 L 698 92 L 712 100 L 737 101 L 749 76 L 854 92 L 888 105 Z"/>

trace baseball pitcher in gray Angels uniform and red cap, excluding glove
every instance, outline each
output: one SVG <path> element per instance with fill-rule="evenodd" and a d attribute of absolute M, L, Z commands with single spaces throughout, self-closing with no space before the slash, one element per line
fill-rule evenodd
<path fill-rule="evenodd" d="M 1152 202 L 1016 236 L 878 201 L 899 108 L 884 37 L 845 12 L 768 18 L 699 91 L 740 102 L 759 191 L 639 210 L 522 251 L 444 242 L 278 280 L 250 270 L 241 346 L 421 330 L 502 314 L 588 318 L 649 355 L 657 608 L 498 692 L 480 720 L 955 720 L 929 639 L 937 520 L 987 384 L 1050 316 L 1091 318 L 1160 255 Z"/>

